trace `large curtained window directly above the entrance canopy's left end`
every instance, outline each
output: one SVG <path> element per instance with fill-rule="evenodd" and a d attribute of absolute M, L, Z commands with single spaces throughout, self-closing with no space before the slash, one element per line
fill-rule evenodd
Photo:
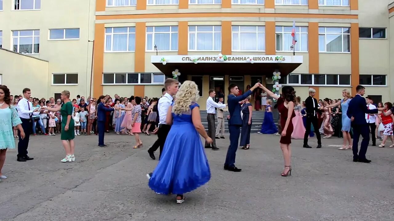
<path fill-rule="evenodd" d="M 178 51 L 178 26 L 147 27 L 147 51 Z"/>

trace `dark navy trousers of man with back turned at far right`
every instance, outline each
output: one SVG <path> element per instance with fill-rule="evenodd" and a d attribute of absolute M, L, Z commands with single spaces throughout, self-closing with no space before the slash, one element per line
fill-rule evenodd
<path fill-rule="evenodd" d="M 365 125 L 352 125 L 353 128 L 353 159 L 365 159 L 365 154 L 367 153 L 369 144 L 369 126 Z M 359 140 L 360 135 L 362 136 L 360 152 L 359 151 Z"/>

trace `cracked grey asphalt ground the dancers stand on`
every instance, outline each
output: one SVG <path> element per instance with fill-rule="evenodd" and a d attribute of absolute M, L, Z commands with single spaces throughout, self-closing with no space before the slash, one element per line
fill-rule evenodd
<path fill-rule="evenodd" d="M 372 164 L 364 164 L 352 162 L 350 150 L 337 150 L 341 139 L 323 140 L 322 149 L 293 140 L 293 175 L 281 177 L 279 136 L 252 134 L 251 149 L 237 151 L 240 173 L 223 170 L 226 137 L 217 140 L 220 151 L 206 151 L 210 182 L 180 205 L 175 196 L 156 195 L 147 185 L 145 173 L 157 164 L 147 148 L 156 136 L 142 136 L 141 149 L 132 149 L 134 137 L 128 135 L 106 134 L 106 148 L 97 147 L 97 136 L 78 136 L 73 163 L 60 162 L 59 135 L 32 137 L 34 160 L 17 162 L 16 149 L 7 152 L 0 220 L 394 220 L 394 148 L 370 146 Z"/>

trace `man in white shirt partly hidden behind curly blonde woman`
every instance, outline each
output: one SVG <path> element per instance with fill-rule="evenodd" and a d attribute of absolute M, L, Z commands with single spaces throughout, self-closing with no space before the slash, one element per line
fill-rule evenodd
<path fill-rule="evenodd" d="M 178 88 L 179 88 L 178 81 L 173 78 L 167 78 L 164 83 L 164 88 L 166 93 L 163 95 L 163 97 L 159 99 L 157 105 L 157 109 L 159 112 L 159 127 L 158 130 L 155 129 L 154 131 L 154 132 L 157 131 L 159 145 L 152 145 L 152 147 L 149 148 L 148 150 L 149 156 L 152 159 L 156 158 L 154 156 L 154 151 L 156 151 L 158 147 L 160 147 L 160 155 L 161 155 L 163 151 L 165 139 L 167 138 L 167 134 L 171 129 L 171 125 L 168 125 L 165 122 L 165 118 L 167 117 L 168 108 L 171 106 L 171 103 L 173 102 L 173 96 L 175 96 L 175 94 L 177 94 L 178 92 Z M 159 160 L 160 160 L 160 155 L 159 155 Z"/>

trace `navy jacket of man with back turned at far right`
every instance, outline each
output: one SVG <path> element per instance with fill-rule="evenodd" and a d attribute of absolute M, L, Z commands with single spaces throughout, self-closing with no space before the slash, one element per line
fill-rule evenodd
<path fill-rule="evenodd" d="M 365 103 L 365 98 L 361 97 L 360 95 L 356 95 L 351 101 L 349 102 L 348 118 L 354 117 L 352 125 L 364 125 L 367 124 L 365 120 L 365 114 L 377 114 L 377 109 L 369 110 Z"/>

